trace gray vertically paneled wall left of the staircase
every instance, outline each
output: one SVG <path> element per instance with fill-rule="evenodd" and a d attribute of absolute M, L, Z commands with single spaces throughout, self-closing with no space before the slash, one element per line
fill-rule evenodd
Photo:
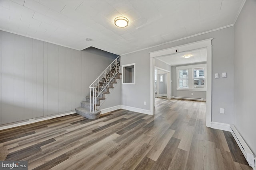
<path fill-rule="evenodd" d="M 90 84 L 115 57 L 0 31 L 0 124 L 80 107 Z"/>

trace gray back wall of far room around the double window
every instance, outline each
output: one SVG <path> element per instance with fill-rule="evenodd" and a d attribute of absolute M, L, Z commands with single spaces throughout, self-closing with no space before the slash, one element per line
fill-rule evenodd
<path fill-rule="evenodd" d="M 200 64 L 206 64 L 206 63 L 200 63 Z M 193 64 L 186 64 L 186 65 L 193 65 Z M 179 66 L 186 66 L 186 65 L 179 65 Z M 171 83 L 172 84 L 172 96 L 206 99 L 206 91 L 177 90 L 176 67 L 177 66 L 172 66 L 172 83 Z M 191 93 L 193 93 L 193 95 L 191 95 Z"/>

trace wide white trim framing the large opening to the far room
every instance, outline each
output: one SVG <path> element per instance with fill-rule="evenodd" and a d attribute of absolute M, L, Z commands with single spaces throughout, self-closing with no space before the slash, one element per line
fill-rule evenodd
<path fill-rule="evenodd" d="M 184 45 L 180 45 L 177 47 L 172 47 L 164 50 L 159 50 L 159 51 L 153 51 L 150 53 L 150 111 L 151 114 L 154 114 L 154 58 L 155 57 L 160 57 L 163 55 L 170 55 L 170 54 L 175 54 L 176 49 L 178 49 L 179 52 L 184 52 L 184 51 L 190 51 L 190 50 L 195 50 L 195 49 L 202 49 L 206 48 L 207 51 L 207 63 L 206 63 L 206 71 L 207 71 L 207 91 L 206 91 L 206 126 L 211 127 L 211 122 L 212 122 L 212 39 L 205 39 L 202 41 L 197 41 L 194 43 L 188 43 Z"/>

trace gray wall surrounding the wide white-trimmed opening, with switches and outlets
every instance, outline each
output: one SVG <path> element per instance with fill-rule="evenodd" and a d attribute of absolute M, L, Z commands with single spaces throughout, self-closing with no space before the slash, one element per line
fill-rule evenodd
<path fill-rule="evenodd" d="M 234 104 L 234 27 L 122 55 L 122 64 L 136 63 L 136 85 L 122 86 L 122 105 L 150 110 L 150 52 L 212 39 L 212 75 L 227 72 L 227 78 L 212 78 L 212 121 L 233 122 Z M 214 77 L 214 76 L 213 76 Z M 144 105 L 143 102 L 147 104 Z M 225 109 L 225 114 L 220 113 Z"/>

